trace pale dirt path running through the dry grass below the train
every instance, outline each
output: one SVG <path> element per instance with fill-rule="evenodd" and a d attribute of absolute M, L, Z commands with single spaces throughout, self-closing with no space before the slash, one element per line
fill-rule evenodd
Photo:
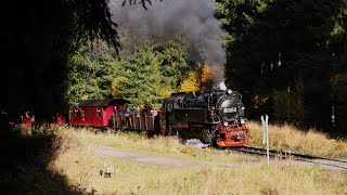
<path fill-rule="evenodd" d="M 218 162 L 200 162 L 190 159 L 175 158 L 175 157 L 164 157 L 156 155 L 147 155 L 138 152 L 129 152 L 124 150 L 117 150 L 104 145 L 94 146 L 92 148 L 94 153 L 102 156 L 115 157 L 119 160 L 134 161 L 146 165 L 155 165 L 163 167 L 261 167 L 265 166 L 265 162 L 240 162 L 240 164 L 218 164 Z M 296 160 L 271 160 L 271 166 L 305 166 L 305 167 L 319 167 L 321 169 L 329 170 L 345 170 L 338 167 L 324 166 L 320 164 L 306 162 L 306 161 L 296 161 Z"/>

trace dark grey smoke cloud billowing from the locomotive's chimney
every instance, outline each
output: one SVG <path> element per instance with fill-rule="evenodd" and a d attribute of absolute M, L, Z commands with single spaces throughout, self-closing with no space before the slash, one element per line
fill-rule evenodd
<path fill-rule="evenodd" d="M 158 39 L 179 36 L 189 46 L 192 60 L 205 58 L 201 63 L 226 64 L 226 52 L 219 41 L 221 24 L 214 16 L 213 0 L 152 0 L 147 11 L 141 5 L 121 6 L 121 2 L 110 2 L 113 20 L 120 27 Z M 222 81 L 223 73 L 216 73 L 215 77 L 218 82 Z"/>

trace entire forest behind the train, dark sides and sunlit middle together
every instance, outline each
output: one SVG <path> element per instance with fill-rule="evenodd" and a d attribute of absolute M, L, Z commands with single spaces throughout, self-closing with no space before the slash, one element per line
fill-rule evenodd
<path fill-rule="evenodd" d="M 124 5 L 165 3 L 134 2 Z M 172 92 L 214 87 L 219 69 L 192 61 L 184 40 L 117 27 L 107 3 L 1 6 L 2 125 L 27 109 L 51 116 L 80 99 L 159 104 Z M 347 134 L 347 0 L 216 0 L 216 6 L 226 31 L 226 83 L 243 94 L 249 119 L 268 114 L 273 122 Z"/>

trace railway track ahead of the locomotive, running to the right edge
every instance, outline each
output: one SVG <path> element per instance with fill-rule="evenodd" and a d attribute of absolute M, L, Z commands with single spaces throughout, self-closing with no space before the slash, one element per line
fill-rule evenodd
<path fill-rule="evenodd" d="M 236 148 L 229 148 L 233 151 L 237 151 L 240 153 L 253 154 L 253 155 L 267 155 L 267 150 L 262 147 L 254 147 L 254 146 L 242 146 Z M 281 158 L 281 159 L 293 159 L 305 161 L 309 164 L 314 164 L 323 167 L 331 167 L 335 169 L 343 169 L 347 170 L 347 160 L 342 159 L 331 159 L 324 157 L 318 157 L 312 155 L 304 155 L 297 154 L 290 151 L 277 151 L 277 150 L 269 150 L 269 156 L 271 158 Z"/>

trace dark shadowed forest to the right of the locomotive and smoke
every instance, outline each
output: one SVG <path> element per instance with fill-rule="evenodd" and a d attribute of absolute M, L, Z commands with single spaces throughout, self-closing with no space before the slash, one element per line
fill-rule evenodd
<path fill-rule="evenodd" d="M 244 93 L 250 118 L 346 132 L 346 0 L 226 0 L 218 10 L 228 86 Z"/>

